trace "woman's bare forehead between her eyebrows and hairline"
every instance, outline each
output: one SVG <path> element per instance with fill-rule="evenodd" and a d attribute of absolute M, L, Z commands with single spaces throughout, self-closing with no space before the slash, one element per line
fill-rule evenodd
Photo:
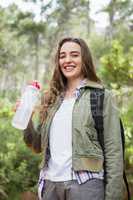
<path fill-rule="evenodd" d="M 71 52 L 71 51 L 81 52 L 80 45 L 75 42 L 65 42 L 60 49 L 60 53 Z"/>

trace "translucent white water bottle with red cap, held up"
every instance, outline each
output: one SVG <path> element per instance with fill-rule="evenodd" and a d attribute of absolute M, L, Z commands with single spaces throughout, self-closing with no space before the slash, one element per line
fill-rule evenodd
<path fill-rule="evenodd" d="M 27 85 L 22 94 L 20 105 L 12 120 L 12 126 L 24 130 L 28 126 L 33 109 L 38 101 L 40 84 L 37 81 Z"/>

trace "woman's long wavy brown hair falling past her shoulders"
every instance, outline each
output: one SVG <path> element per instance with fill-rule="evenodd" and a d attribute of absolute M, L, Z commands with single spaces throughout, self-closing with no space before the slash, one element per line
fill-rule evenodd
<path fill-rule="evenodd" d="M 81 57 L 82 57 L 82 73 L 84 78 L 94 82 L 101 82 L 100 79 L 96 75 L 95 66 L 93 64 L 92 56 L 90 50 L 85 43 L 85 41 L 81 38 L 71 38 L 67 37 L 62 39 L 58 44 L 57 53 L 55 56 L 55 69 L 50 82 L 50 87 L 47 93 L 44 94 L 44 101 L 42 101 L 42 106 L 40 110 L 41 121 L 45 121 L 47 116 L 47 111 L 50 105 L 52 105 L 57 96 L 60 95 L 66 88 L 67 79 L 63 75 L 59 66 L 59 56 L 60 50 L 64 43 L 66 42 L 74 42 L 77 43 L 81 47 Z"/>

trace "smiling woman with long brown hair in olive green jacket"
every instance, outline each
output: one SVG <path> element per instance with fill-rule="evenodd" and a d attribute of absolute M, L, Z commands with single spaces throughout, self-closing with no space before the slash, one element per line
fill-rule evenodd
<path fill-rule="evenodd" d="M 120 124 L 112 94 L 104 95 L 104 155 L 94 127 L 90 88 L 103 88 L 82 39 L 60 41 L 40 125 L 30 121 L 24 141 L 43 151 L 39 178 L 42 200 L 121 200 L 123 158 Z M 106 184 L 104 167 L 106 161 Z"/>

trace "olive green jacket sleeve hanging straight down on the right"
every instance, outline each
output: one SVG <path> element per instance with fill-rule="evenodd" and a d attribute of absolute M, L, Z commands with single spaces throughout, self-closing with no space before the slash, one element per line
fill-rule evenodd
<path fill-rule="evenodd" d="M 111 92 L 104 99 L 105 200 L 123 199 L 123 150 L 119 112 Z"/>

